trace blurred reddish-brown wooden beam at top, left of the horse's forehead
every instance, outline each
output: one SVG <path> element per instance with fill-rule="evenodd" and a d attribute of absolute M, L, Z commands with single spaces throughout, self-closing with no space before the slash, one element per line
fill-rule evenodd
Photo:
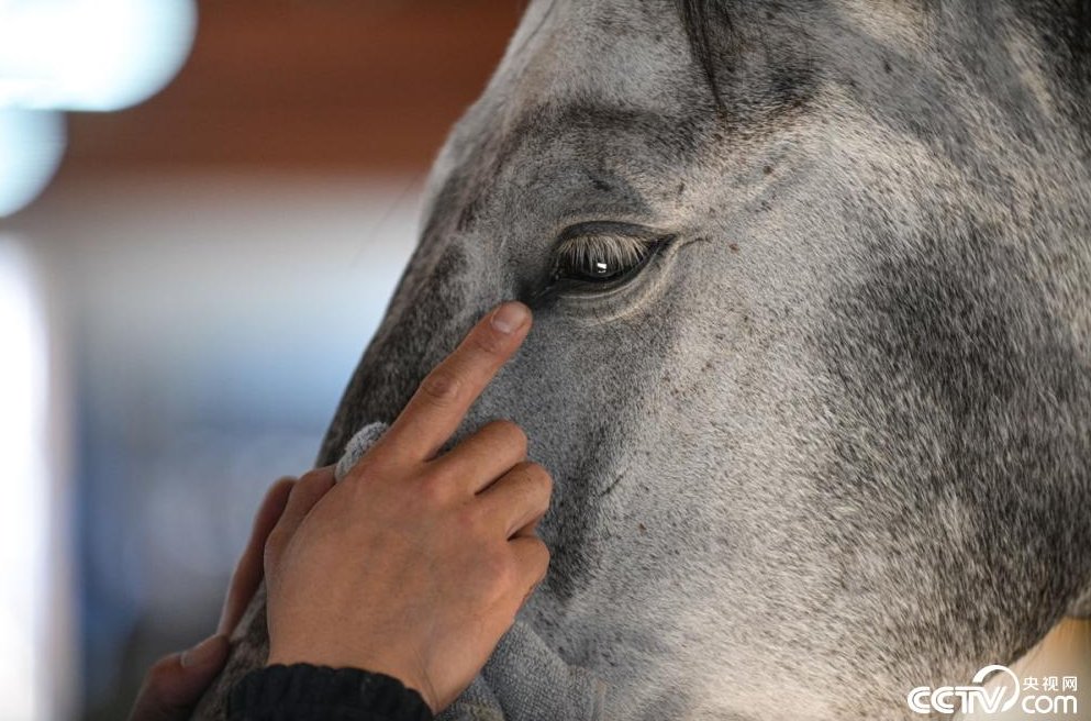
<path fill-rule="evenodd" d="M 65 171 L 425 169 L 481 92 L 515 0 L 203 0 L 158 96 L 69 117 Z"/>

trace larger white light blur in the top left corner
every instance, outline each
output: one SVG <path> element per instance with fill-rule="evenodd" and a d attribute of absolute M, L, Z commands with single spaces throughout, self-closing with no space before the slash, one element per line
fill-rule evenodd
<path fill-rule="evenodd" d="M 189 54 L 192 0 L 0 0 L 0 106 L 120 110 Z"/>

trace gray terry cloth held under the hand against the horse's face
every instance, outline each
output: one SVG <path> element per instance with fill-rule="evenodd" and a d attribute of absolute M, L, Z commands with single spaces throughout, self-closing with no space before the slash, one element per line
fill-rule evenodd
<path fill-rule="evenodd" d="M 345 446 L 334 476 L 356 465 L 387 430 L 360 429 Z M 437 721 L 598 721 L 605 685 L 586 668 L 569 666 L 522 621 L 500 640 L 470 687 L 441 712 Z"/>

